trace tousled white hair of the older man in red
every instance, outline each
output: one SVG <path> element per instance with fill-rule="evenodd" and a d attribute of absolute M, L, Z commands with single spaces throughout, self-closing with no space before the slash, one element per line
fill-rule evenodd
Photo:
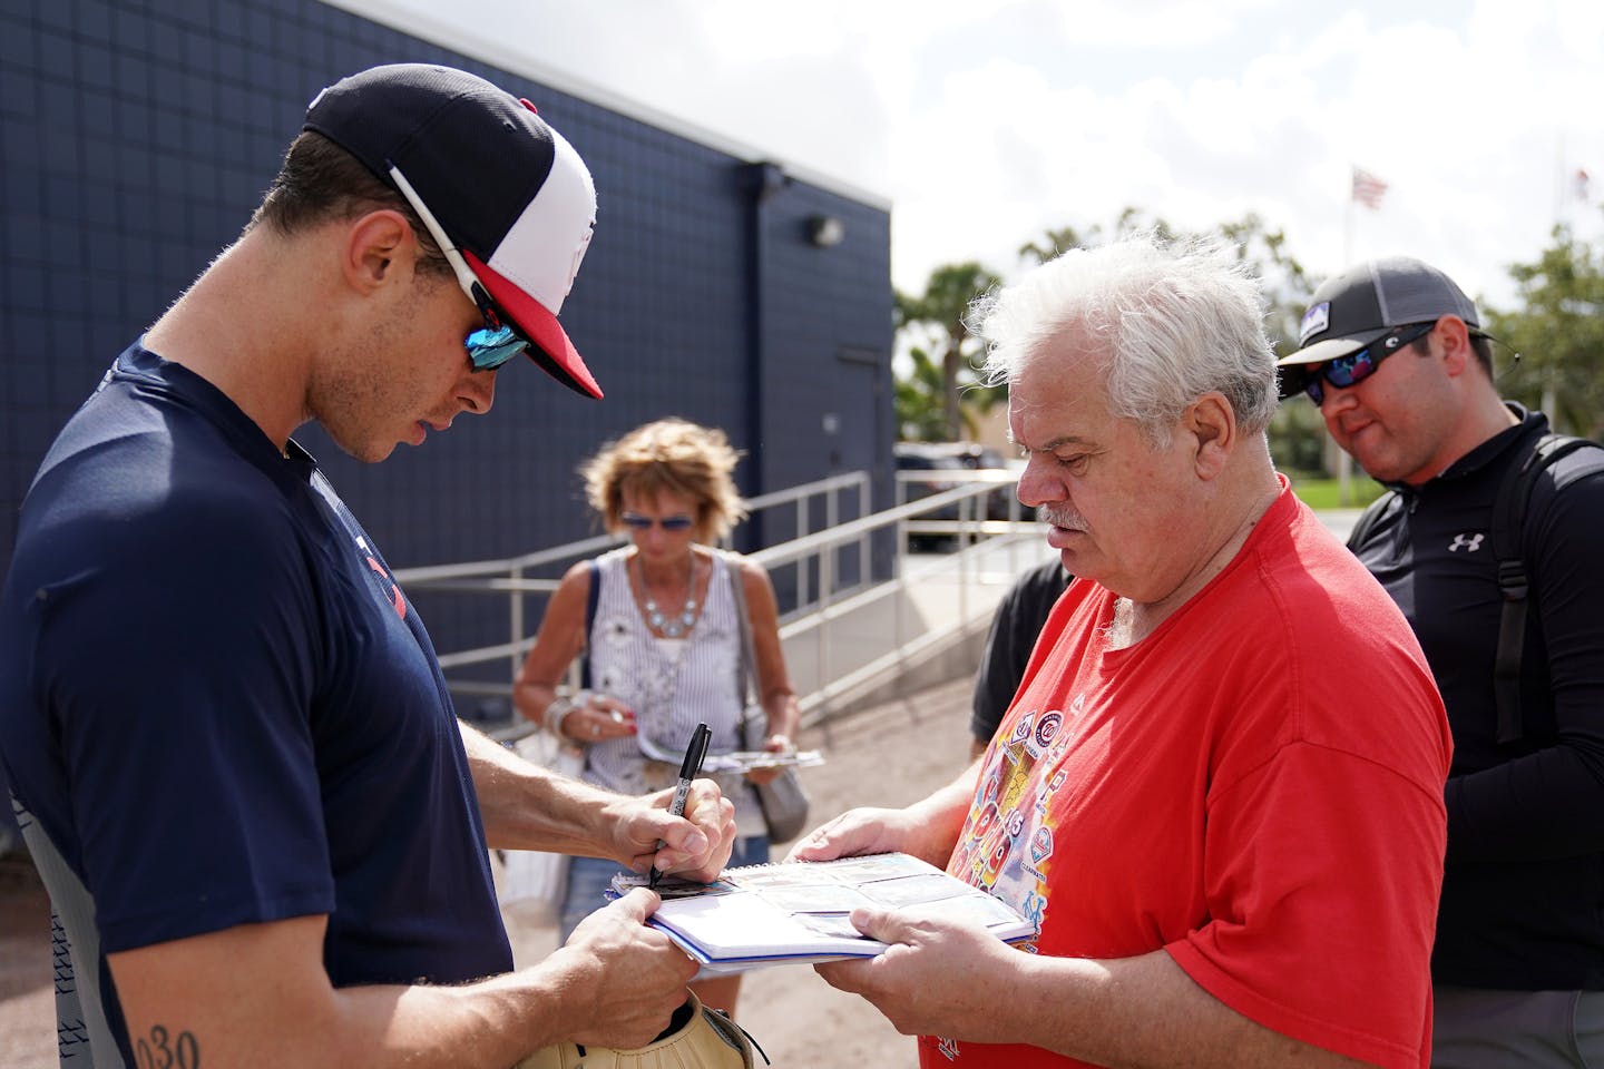
<path fill-rule="evenodd" d="M 1189 404 L 1217 391 L 1245 433 L 1275 413 L 1275 353 L 1253 269 L 1217 239 L 1161 242 L 1152 231 L 1070 252 L 970 309 L 990 383 L 1019 378 L 1073 335 L 1108 372 L 1108 405 L 1156 447 Z"/>

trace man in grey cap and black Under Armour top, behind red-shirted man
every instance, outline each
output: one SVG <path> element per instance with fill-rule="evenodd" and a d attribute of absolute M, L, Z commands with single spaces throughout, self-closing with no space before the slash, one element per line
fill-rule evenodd
<path fill-rule="evenodd" d="M 1418 260 L 1322 285 L 1280 364 L 1283 396 L 1307 393 L 1395 490 L 1349 548 L 1413 625 L 1453 728 L 1432 1064 L 1604 1064 L 1604 450 L 1533 466 L 1498 550 L 1500 492 L 1548 420 L 1500 399 L 1476 305 Z M 1505 623 L 1503 556 L 1525 571 L 1524 627 Z"/>

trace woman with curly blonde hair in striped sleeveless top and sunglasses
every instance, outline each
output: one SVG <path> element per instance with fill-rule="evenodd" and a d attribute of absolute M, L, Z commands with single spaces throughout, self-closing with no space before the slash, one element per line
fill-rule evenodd
<path fill-rule="evenodd" d="M 741 585 L 752 635 L 764 748 L 792 748 L 797 700 L 780 647 L 775 590 L 762 566 L 712 548 L 746 516 L 731 471 L 738 454 L 723 431 L 687 420 L 646 423 L 608 442 L 581 468 L 590 506 L 629 543 L 568 569 L 518 673 L 518 712 L 584 750 L 582 779 L 624 795 L 674 782 L 674 763 L 698 723 L 711 752 L 744 750 L 741 715 Z M 592 591 L 595 583 L 595 591 Z M 593 603 L 592 603 L 593 596 Z M 587 606 L 593 604 L 593 609 Z M 585 619 L 590 615 L 589 633 Z M 574 657 L 587 659 L 587 689 L 560 694 Z M 751 782 L 775 769 L 715 776 L 735 801 L 731 865 L 768 861 L 764 814 Z M 576 857 L 561 909 L 561 938 L 603 904 L 618 864 Z M 739 976 L 693 984 L 715 1008 L 735 1010 Z"/>

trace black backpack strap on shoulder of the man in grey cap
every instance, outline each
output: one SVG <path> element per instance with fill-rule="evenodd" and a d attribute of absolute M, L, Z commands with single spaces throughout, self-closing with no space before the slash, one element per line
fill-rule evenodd
<path fill-rule="evenodd" d="M 1493 656 L 1493 700 L 1498 708 L 1498 745 L 1521 740 L 1525 724 L 1521 713 L 1521 654 L 1525 647 L 1525 614 L 1530 580 L 1525 572 L 1525 510 L 1532 487 L 1545 468 L 1561 457 L 1598 442 L 1569 434 L 1543 434 L 1529 455 L 1509 468 L 1493 500 L 1492 548 L 1498 563 L 1498 652 Z"/>

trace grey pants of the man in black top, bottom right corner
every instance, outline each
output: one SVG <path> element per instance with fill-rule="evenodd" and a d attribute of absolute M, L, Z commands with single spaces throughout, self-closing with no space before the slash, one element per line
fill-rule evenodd
<path fill-rule="evenodd" d="M 1604 1069 L 1604 992 L 1432 989 L 1432 1069 Z"/>

